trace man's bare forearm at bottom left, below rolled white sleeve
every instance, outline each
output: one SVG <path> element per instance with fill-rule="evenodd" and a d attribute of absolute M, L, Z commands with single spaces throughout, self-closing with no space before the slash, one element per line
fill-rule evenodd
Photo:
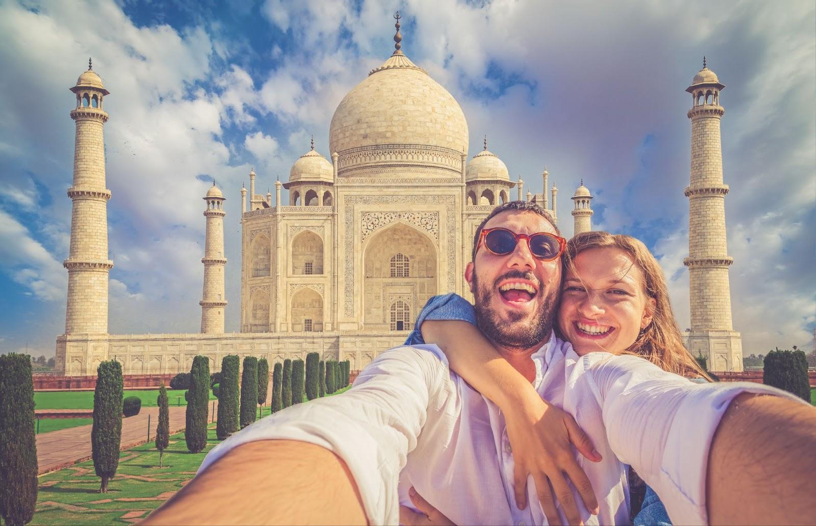
<path fill-rule="evenodd" d="M 345 462 L 294 440 L 237 446 L 141 524 L 367 524 Z"/>

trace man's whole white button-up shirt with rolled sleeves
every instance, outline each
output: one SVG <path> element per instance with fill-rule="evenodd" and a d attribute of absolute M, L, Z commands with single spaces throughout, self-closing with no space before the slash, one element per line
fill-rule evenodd
<path fill-rule="evenodd" d="M 586 524 L 628 524 L 624 464 L 659 494 L 675 524 L 707 524 L 708 448 L 730 400 L 743 391 L 796 399 L 747 382 L 694 384 L 635 356 L 579 357 L 554 335 L 532 359 L 535 389 L 569 412 L 603 456 L 599 463 L 579 456 L 600 506 L 590 515 L 573 489 Z M 437 345 L 385 351 L 351 390 L 255 422 L 213 448 L 199 472 L 231 448 L 264 439 L 335 452 L 371 524 L 397 524 L 410 486 L 456 524 L 548 524 L 531 477 L 530 505 L 517 509 L 503 414 L 450 372 Z"/>

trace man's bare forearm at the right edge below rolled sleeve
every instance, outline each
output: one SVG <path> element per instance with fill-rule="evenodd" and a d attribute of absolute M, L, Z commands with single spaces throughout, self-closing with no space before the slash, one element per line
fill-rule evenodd
<path fill-rule="evenodd" d="M 812 524 L 816 408 L 743 393 L 731 403 L 708 459 L 710 524 Z"/>

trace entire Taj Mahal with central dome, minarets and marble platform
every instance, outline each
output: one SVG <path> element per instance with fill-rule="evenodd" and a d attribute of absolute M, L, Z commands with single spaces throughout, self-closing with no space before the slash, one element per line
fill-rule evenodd
<path fill-rule="evenodd" d="M 463 110 L 444 87 L 395 50 L 339 103 L 331 118 L 328 156 L 312 142 L 292 164 L 275 194 L 255 189 L 254 169 L 240 189 L 242 209 L 241 304 L 224 294 L 224 194 L 213 186 L 203 198 L 206 244 L 201 332 L 149 335 L 108 333 L 109 260 L 105 183 L 104 99 L 91 69 L 71 91 L 76 107 L 73 203 L 65 333 L 56 340 L 56 369 L 66 376 L 95 375 L 116 359 L 125 374 L 188 371 L 193 357 L 220 370 L 227 354 L 265 357 L 270 363 L 305 359 L 349 360 L 360 369 L 400 345 L 430 296 L 457 292 L 471 298 L 463 278 L 477 226 L 498 204 L 539 203 L 559 218 L 557 188 L 543 169 L 543 193 L 524 192 L 521 177 L 484 149 L 468 156 Z M 731 322 L 725 243 L 720 91 L 703 64 L 690 86 L 689 257 L 691 327 L 686 344 L 712 371 L 741 371 L 742 344 Z M 304 148 L 305 149 L 305 148 Z M 543 164 L 543 163 L 542 163 Z M 283 203 L 281 189 L 288 191 Z M 238 189 L 235 189 L 237 196 Z M 572 196 L 574 232 L 592 230 L 592 194 L 583 181 Z M 113 201 L 115 203 L 115 199 Z M 112 203 L 112 204 L 113 204 Z M 192 262 L 191 262 L 192 264 Z M 230 262 L 230 264 L 233 264 Z M 191 305 L 193 308 L 193 305 Z M 224 332 L 226 309 L 240 310 L 240 332 Z"/>

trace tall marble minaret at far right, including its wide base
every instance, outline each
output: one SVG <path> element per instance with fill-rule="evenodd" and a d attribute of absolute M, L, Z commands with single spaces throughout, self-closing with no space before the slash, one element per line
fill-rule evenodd
<path fill-rule="evenodd" d="M 691 184 L 689 198 L 689 267 L 691 328 L 689 350 L 708 360 L 710 371 L 742 371 L 742 339 L 731 322 L 728 267 L 734 259 L 725 243 L 725 194 L 722 178 L 720 91 L 725 87 L 706 67 L 691 86 Z"/>

